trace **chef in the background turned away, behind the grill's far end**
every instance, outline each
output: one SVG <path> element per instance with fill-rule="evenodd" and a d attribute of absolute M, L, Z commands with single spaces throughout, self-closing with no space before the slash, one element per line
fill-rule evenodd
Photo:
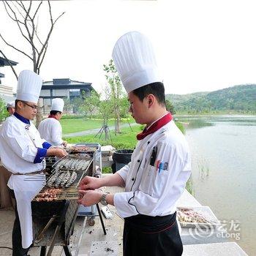
<path fill-rule="evenodd" d="M 62 140 L 62 127 L 59 122 L 62 117 L 63 108 L 63 99 L 53 99 L 50 115 L 42 120 L 38 126 L 41 138 L 44 138 L 53 146 L 67 146 L 67 142 Z"/>

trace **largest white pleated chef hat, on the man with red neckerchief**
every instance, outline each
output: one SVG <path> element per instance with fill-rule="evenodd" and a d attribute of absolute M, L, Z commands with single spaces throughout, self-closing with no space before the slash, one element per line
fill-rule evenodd
<path fill-rule="evenodd" d="M 112 57 L 127 93 L 148 83 L 162 82 L 151 42 L 140 32 L 121 36 Z"/>

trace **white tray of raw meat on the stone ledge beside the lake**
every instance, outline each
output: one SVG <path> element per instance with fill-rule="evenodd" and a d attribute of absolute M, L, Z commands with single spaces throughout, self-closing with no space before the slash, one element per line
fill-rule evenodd
<path fill-rule="evenodd" d="M 200 228 L 208 228 L 208 227 L 217 227 L 220 225 L 219 219 L 214 215 L 214 213 L 211 211 L 211 208 L 208 206 L 193 206 L 193 207 L 177 207 L 177 218 L 178 218 L 178 211 L 185 210 L 189 211 L 192 210 L 194 212 L 197 212 L 198 214 L 201 214 L 203 217 L 207 219 L 208 222 L 183 222 L 179 220 L 179 223 L 181 224 L 181 227 L 200 227 Z"/>

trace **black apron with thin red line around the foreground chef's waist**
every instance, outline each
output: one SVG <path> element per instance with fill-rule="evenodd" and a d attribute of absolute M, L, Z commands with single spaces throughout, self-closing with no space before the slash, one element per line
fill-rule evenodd
<path fill-rule="evenodd" d="M 183 252 L 176 213 L 124 218 L 123 240 L 124 256 L 180 256 Z"/>

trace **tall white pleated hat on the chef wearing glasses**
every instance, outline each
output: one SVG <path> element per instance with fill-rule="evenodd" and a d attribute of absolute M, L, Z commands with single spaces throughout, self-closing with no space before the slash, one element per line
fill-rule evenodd
<path fill-rule="evenodd" d="M 17 99 L 37 103 L 42 87 L 42 78 L 35 72 L 23 70 L 18 77 Z"/>

